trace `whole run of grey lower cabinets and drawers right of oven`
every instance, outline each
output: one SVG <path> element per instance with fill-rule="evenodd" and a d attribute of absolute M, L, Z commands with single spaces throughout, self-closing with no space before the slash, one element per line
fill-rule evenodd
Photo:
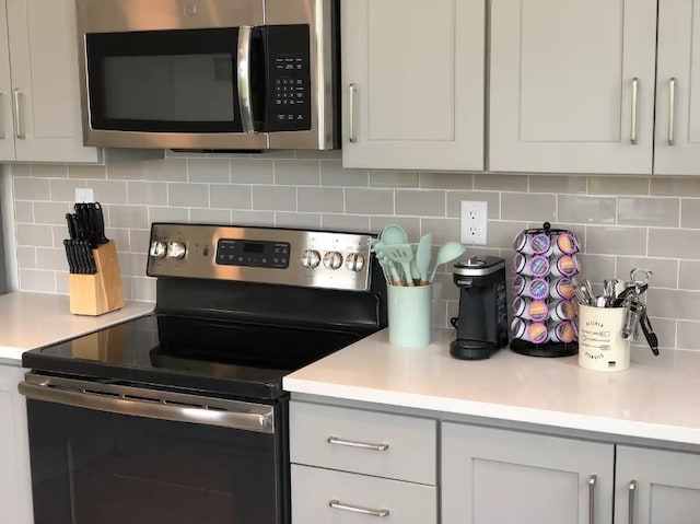
<path fill-rule="evenodd" d="M 292 400 L 292 524 L 700 522 L 700 453 L 603 440 Z"/>

